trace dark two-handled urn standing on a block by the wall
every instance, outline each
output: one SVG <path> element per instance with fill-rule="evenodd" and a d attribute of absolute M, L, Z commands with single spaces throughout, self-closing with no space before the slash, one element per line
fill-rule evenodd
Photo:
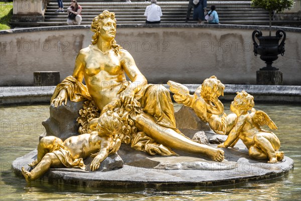
<path fill-rule="evenodd" d="M 257 44 L 255 37 L 259 41 L 259 45 Z M 282 41 L 279 44 L 279 40 Z M 283 30 L 276 31 L 276 36 L 262 36 L 262 32 L 259 30 L 255 30 L 252 33 L 252 39 L 254 42 L 254 54 L 260 55 L 260 59 L 265 61 L 266 66 L 260 68 L 260 70 L 278 70 L 272 66 L 273 61 L 278 59 L 278 54 L 281 56 L 284 55 L 284 41 L 286 38 L 286 34 Z"/>

